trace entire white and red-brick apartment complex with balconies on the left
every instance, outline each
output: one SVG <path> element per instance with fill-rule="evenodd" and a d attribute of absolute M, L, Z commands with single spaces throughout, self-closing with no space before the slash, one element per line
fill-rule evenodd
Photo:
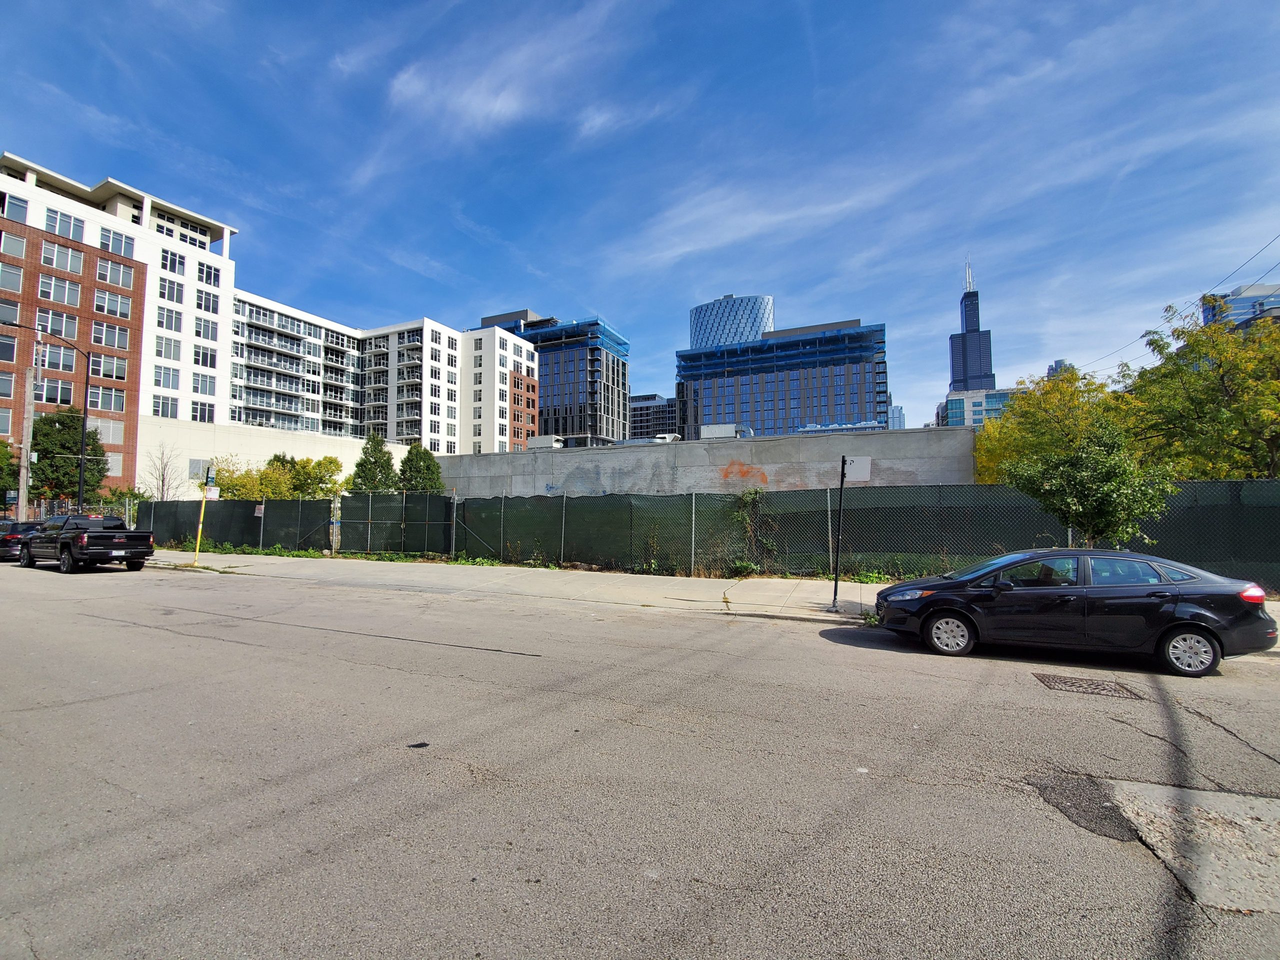
<path fill-rule="evenodd" d="M 184 467 L 170 495 L 188 495 L 187 463 L 202 475 L 214 456 L 332 454 L 351 470 L 366 430 L 442 456 L 536 435 L 529 340 L 425 317 L 369 330 L 237 289 L 234 233 L 0 155 L 0 438 L 20 442 L 33 381 L 37 416 L 87 406 L 109 485 L 154 485 L 160 452 Z"/>

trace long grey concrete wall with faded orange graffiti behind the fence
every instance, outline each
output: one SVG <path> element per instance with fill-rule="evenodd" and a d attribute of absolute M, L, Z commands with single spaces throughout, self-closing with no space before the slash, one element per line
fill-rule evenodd
<path fill-rule="evenodd" d="M 460 497 L 809 490 L 840 485 L 844 454 L 854 486 L 972 484 L 973 438 L 972 428 L 952 426 L 544 449 L 440 457 L 440 471 Z"/>

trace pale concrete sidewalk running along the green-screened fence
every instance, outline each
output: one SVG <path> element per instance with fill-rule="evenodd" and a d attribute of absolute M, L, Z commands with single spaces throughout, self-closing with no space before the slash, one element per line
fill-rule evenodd
<path fill-rule="evenodd" d="M 182 550 L 156 550 L 156 566 L 191 563 Z M 847 623 L 874 607 L 883 584 L 841 584 L 840 613 L 829 613 L 827 580 L 709 580 L 637 573 L 596 573 L 529 567 L 471 567 L 451 563 L 390 563 L 344 558 L 305 559 L 251 554 L 201 553 L 200 566 L 219 572 L 378 586 L 440 594 L 502 594 L 582 603 L 658 607 L 730 616 L 783 617 Z"/>

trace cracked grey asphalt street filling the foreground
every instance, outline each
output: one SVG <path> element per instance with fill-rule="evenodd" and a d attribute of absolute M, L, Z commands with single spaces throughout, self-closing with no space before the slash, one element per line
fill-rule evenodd
<path fill-rule="evenodd" d="M 1280 955 L 1110 786 L 1280 797 L 1277 657 L 951 659 L 310 563 L 0 567 L 0 955 Z"/>

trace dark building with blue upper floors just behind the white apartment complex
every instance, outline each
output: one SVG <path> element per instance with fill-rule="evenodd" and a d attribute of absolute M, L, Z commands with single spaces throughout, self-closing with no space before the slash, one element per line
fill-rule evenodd
<path fill-rule="evenodd" d="M 627 439 L 631 343 L 603 317 L 558 320 L 531 310 L 481 317 L 480 329 L 507 330 L 538 348 L 538 431 L 566 447 Z"/>

